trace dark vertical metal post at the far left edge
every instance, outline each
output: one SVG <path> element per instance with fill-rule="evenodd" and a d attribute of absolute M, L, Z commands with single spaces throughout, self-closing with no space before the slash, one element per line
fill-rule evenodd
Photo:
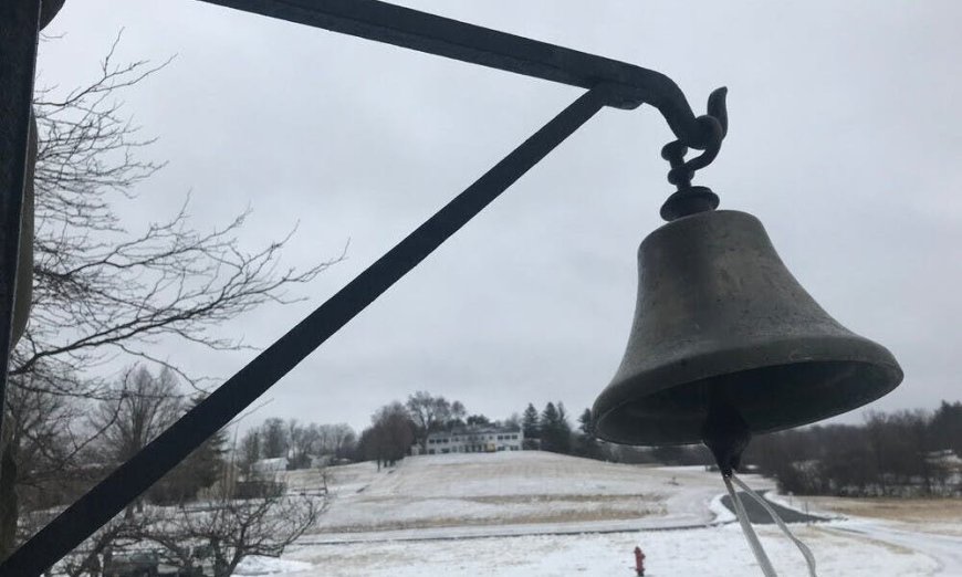
<path fill-rule="evenodd" d="M 7 374 L 13 346 L 20 217 L 23 191 L 31 178 L 27 149 L 39 31 L 40 0 L 0 2 L 0 430 L 7 412 Z"/>

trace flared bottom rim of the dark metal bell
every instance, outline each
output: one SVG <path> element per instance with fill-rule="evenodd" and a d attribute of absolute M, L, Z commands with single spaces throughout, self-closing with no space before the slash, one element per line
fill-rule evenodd
<path fill-rule="evenodd" d="M 808 352 L 806 345 L 811 347 Z M 785 350 L 794 354 L 785 355 Z M 839 349 L 843 349 L 841 353 Z M 847 350 L 844 350 L 847 349 Z M 778 359 L 781 357 L 781 359 Z M 631 445 L 672 445 L 701 443 L 699 433 L 678 436 L 678 439 L 646 439 L 639 436 L 617 434 L 606 431 L 606 420 L 619 408 L 630 402 L 637 402 L 646 397 L 651 397 L 673 387 L 697 382 L 714 377 L 722 377 L 740 371 L 764 369 L 778 366 L 816 364 L 816 363 L 851 363 L 876 367 L 885 371 L 883 386 L 871 390 L 870 395 L 849 399 L 845 395 L 838 395 L 838 410 L 813 412 L 811 416 L 792 422 L 785 422 L 776 427 L 752 428 L 752 433 L 766 433 L 802 427 L 813 422 L 828 419 L 837 415 L 864 407 L 891 392 L 898 387 L 905 373 L 895 356 L 883 346 L 851 334 L 850 336 L 820 335 L 817 337 L 794 336 L 782 340 L 770 342 L 763 347 L 744 346 L 739 348 L 721 349 L 702 353 L 684 359 L 669 361 L 659 366 L 649 367 L 644 376 L 636 376 L 620 381 L 613 381 L 598 396 L 592 407 L 595 434 L 604 441 L 631 444 Z M 717 370 L 704 371 L 700 367 L 713 366 Z M 673 378 L 668 378 L 672 375 Z M 616 376 L 617 378 L 617 376 Z M 658 385 L 655 385 L 658 384 Z M 631 395 L 631 390 L 644 387 L 644 395 Z"/>

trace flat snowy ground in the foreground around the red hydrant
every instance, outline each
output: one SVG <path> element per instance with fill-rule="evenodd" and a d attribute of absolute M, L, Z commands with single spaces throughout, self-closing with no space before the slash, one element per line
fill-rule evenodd
<path fill-rule="evenodd" d="M 761 527 L 760 534 L 780 576 L 807 575 L 798 550 L 777 529 Z M 819 526 L 802 527 L 798 535 L 816 550 L 823 576 L 912 577 L 938 569 L 933 559 L 908 548 L 834 535 Z M 725 525 L 684 531 L 313 545 L 286 555 L 312 564 L 312 569 L 279 573 L 276 577 L 627 577 L 634 575 L 630 568 L 635 546 L 647 556 L 648 576 L 761 575 L 739 528 Z"/>

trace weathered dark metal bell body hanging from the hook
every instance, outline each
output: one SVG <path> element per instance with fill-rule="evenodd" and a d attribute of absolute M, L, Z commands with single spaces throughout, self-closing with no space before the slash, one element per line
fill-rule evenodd
<path fill-rule="evenodd" d="M 600 439 L 701 442 L 718 399 L 751 433 L 775 431 L 860 407 L 902 380 L 891 353 L 802 288 L 751 214 L 669 222 L 641 242 L 638 267 L 628 349 L 593 409 Z"/>

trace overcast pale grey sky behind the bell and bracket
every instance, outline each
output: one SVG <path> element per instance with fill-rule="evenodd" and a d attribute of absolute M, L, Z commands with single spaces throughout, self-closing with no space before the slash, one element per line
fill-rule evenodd
<path fill-rule="evenodd" d="M 729 87 L 729 136 L 698 183 L 756 214 L 795 276 L 889 347 L 905 382 L 871 408 L 962 399 L 962 2 L 406 1 L 662 72 L 698 114 Z M 163 4 L 163 7 L 161 7 Z M 194 0 L 71 0 L 41 82 L 119 55 L 176 60 L 126 95 L 169 165 L 121 210 L 132 228 L 192 191 L 199 228 L 252 207 L 251 248 L 348 259 L 307 300 L 224 326 L 270 344 L 581 91 Z M 368 423 L 426 389 L 470 412 L 588 407 L 624 353 L 637 244 L 671 192 L 650 107 L 605 109 L 278 384 L 251 420 Z M 158 352 L 228 377 L 252 353 Z M 859 413 L 847 417 L 859 420 Z"/>

